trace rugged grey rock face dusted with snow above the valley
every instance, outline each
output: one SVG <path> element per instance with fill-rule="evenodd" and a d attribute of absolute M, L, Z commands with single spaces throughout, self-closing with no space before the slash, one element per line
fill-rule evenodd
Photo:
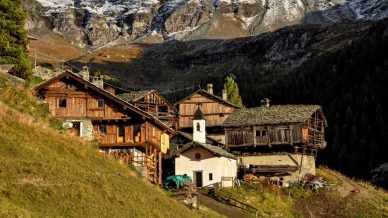
<path fill-rule="evenodd" d="M 30 27 L 42 28 L 43 19 L 46 27 L 74 44 L 95 47 L 119 38 L 235 38 L 301 22 L 388 16 L 385 0 L 32 0 L 31 4 L 26 6 L 32 15 Z"/>

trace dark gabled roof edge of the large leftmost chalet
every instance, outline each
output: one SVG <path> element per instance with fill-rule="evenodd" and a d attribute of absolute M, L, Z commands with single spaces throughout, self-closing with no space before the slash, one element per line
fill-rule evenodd
<path fill-rule="evenodd" d="M 118 97 L 116 97 L 115 95 L 111 94 L 110 92 L 94 85 L 93 83 L 89 82 L 89 81 L 86 81 L 84 80 L 83 78 L 81 78 L 80 76 L 78 76 L 77 74 L 69 71 L 69 70 L 66 70 L 65 72 L 47 80 L 47 81 L 44 81 L 40 84 L 38 84 L 37 86 L 35 86 L 33 88 L 33 92 L 37 93 L 40 89 L 44 88 L 45 86 L 47 86 L 48 84 L 54 82 L 54 81 L 57 81 L 57 80 L 60 80 L 64 77 L 71 77 L 73 78 L 74 80 L 86 85 L 88 88 L 91 88 L 92 90 L 100 93 L 101 95 L 109 98 L 110 100 L 120 104 L 121 106 L 124 107 L 127 107 L 129 109 L 131 109 L 132 111 L 134 111 L 135 113 L 138 113 L 139 115 L 141 116 L 144 116 L 150 120 L 152 120 L 155 124 L 157 124 L 159 127 L 162 127 L 163 129 L 167 130 L 168 132 L 172 133 L 172 134 L 175 134 L 175 130 L 171 129 L 170 127 L 168 127 L 166 124 L 164 124 L 162 121 L 160 121 L 159 119 L 157 119 L 156 117 L 154 117 L 152 114 L 149 114 L 148 112 L 146 111 L 143 111 L 141 110 L 140 108 L 136 107 L 135 105 L 129 103 L 129 102 L 126 102 Z"/>

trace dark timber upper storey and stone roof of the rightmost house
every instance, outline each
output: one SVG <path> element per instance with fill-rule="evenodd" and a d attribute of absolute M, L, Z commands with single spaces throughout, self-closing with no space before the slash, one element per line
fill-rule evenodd
<path fill-rule="evenodd" d="M 225 145 L 240 151 L 274 151 L 279 146 L 320 149 L 326 146 L 326 125 L 319 105 L 266 103 L 238 110 L 225 120 Z"/>

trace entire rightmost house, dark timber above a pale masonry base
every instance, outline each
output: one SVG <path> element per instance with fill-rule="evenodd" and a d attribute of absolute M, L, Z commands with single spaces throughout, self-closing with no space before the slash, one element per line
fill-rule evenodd
<path fill-rule="evenodd" d="M 240 159 L 239 174 L 288 186 L 315 175 L 317 151 L 326 146 L 325 116 L 319 105 L 244 108 L 224 122 L 226 148 Z"/>

